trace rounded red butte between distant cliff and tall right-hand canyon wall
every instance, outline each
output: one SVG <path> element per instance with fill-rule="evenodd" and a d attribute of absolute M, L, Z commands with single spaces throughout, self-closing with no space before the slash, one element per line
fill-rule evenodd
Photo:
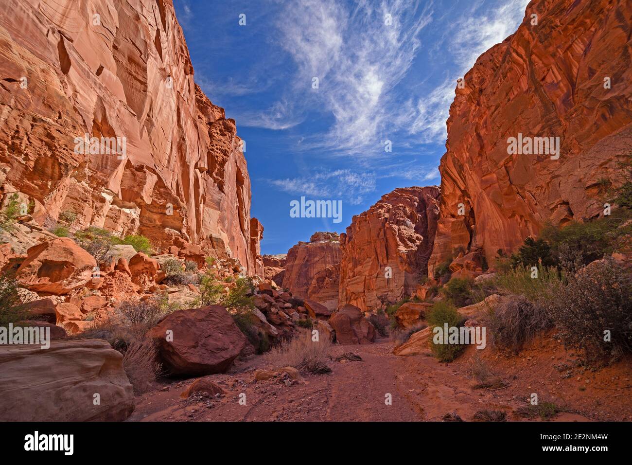
<path fill-rule="evenodd" d="M 438 217 L 438 187 L 395 189 L 354 216 L 341 235 L 339 305 L 371 311 L 414 292 L 427 274 Z"/>

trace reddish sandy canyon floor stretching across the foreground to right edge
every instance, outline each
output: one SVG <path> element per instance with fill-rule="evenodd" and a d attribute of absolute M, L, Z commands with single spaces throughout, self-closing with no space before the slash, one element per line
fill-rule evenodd
<path fill-rule="evenodd" d="M 334 345 L 332 373 L 303 375 L 303 382 L 293 385 L 279 378 L 255 382 L 256 369 L 278 365 L 272 356 L 253 356 L 237 361 L 229 373 L 211 376 L 226 395 L 183 399 L 180 394 L 193 380 L 164 379 L 137 398 L 128 421 L 442 421 L 452 412 L 463 421 L 477 421 L 485 418 L 480 411 L 494 418 L 501 412 L 504 421 L 536 421 L 542 417 L 530 404 L 532 393 L 540 404 L 556 406 L 557 412 L 545 417 L 550 421 L 632 420 L 630 361 L 590 371 L 551 338 L 539 338 L 532 347 L 511 357 L 480 351 L 502 388 L 476 387 L 471 365 L 479 351 L 473 347 L 446 364 L 429 353 L 395 356 L 389 339 Z M 336 361 L 345 352 L 362 361 Z"/>

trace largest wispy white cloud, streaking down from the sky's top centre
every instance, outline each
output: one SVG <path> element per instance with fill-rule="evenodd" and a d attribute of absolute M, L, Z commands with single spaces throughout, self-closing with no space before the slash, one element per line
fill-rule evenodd
<path fill-rule="evenodd" d="M 357 154 L 383 143 L 394 105 L 389 92 L 408 72 L 430 13 L 408 0 L 362 1 L 353 11 L 334 0 L 288 3 L 278 24 L 281 46 L 297 66 L 288 115 L 316 106 L 333 116 L 327 133 L 304 147 Z M 312 89 L 314 77 L 319 89 Z"/>

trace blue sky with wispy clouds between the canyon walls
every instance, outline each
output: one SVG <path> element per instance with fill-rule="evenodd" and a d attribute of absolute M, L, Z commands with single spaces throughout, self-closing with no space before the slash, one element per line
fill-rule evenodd
<path fill-rule="evenodd" d="M 246 142 L 262 253 L 344 232 L 396 187 L 439 185 L 456 79 L 527 3 L 174 0 L 195 81 Z M 301 196 L 343 201 L 342 221 L 291 218 Z"/>

